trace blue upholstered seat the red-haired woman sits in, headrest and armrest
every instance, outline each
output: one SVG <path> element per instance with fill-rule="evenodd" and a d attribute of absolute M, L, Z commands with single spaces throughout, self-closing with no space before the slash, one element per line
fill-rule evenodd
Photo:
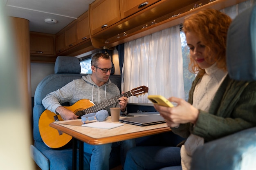
<path fill-rule="evenodd" d="M 227 66 L 233 79 L 256 80 L 256 5 L 231 23 Z M 191 170 L 252 170 L 255 157 L 256 127 L 204 144 L 195 151 Z"/>

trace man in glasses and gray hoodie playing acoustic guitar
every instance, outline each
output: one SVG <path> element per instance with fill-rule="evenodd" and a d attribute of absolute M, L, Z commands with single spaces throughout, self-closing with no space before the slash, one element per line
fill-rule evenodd
<path fill-rule="evenodd" d="M 109 79 L 112 69 L 110 57 L 104 53 L 97 53 L 92 57 L 91 64 L 92 75 L 83 76 L 81 79 L 75 79 L 57 91 L 46 95 L 42 101 L 45 108 L 61 115 L 63 120 L 72 120 L 77 119 L 78 116 L 71 110 L 61 106 L 61 103 L 70 102 L 70 105 L 73 105 L 80 99 L 89 99 L 94 102 L 94 104 L 98 104 L 120 95 L 119 88 Z M 122 96 L 119 98 L 119 103 L 105 109 L 110 113 L 111 107 L 120 107 L 121 112 L 125 112 L 126 105 L 127 97 Z M 85 162 L 87 162 L 87 165 L 84 163 L 84 169 L 106 170 L 109 167 L 112 167 L 112 163 L 109 163 L 109 161 L 113 162 L 112 155 L 117 149 L 120 149 L 120 161 L 124 166 L 126 152 L 134 146 L 134 140 L 126 140 L 104 145 L 90 145 L 84 143 L 84 158 L 86 159 Z"/>

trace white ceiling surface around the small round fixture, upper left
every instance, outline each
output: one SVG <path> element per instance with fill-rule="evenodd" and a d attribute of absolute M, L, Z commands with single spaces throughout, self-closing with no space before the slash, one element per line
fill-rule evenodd
<path fill-rule="evenodd" d="M 88 11 L 94 0 L 5 0 L 8 16 L 29 20 L 30 31 L 56 34 L 67 24 Z M 47 24 L 46 18 L 57 20 Z"/>

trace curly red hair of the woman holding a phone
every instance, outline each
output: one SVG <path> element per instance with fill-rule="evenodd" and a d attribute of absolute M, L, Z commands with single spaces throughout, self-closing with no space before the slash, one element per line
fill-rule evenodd
<path fill-rule="evenodd" d="M 206 9 L 190 15 L 183 22 L 185 35 L 187 32 L 194 32 L 204 43 L 204 60 L 209 63 L 216 62 L 217 67 L 224 71 L 227 71 L 226 40 L 231 21 L 232 19 L 225 13 L 216 9 Z M 204 69 L 200 68 L 191 56 L 189 58 L 189 70 L 192 73 L 200 71 L 199 73 L 203 75 Z"/>

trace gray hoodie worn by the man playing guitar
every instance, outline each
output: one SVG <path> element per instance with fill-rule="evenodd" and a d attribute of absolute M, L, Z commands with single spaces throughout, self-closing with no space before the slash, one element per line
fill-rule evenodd
<path fill-rule="evenodd" d="M 91 75 L 87 75 L 81 79 L 74 79 L 62 88 L 49 93 L 42 100 L 42 104 L 47 110 L 56 113 L 56 108 L 65 102 L 69 102 L 72 106 L 81 99 L 89 99 L 94 104 L 99 104 L 118 95 L 120 95 L 119 88 L 110 79 L 99 87 L 92 81 Z M 120 105 L 117 103 L 105 108 L 109 114 L 110 107 L 120 107 Z"/>

